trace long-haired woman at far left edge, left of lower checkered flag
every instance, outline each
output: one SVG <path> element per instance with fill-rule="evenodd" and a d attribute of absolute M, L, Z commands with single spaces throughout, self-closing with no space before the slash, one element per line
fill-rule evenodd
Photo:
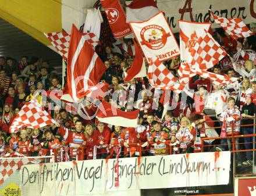
<path fill-rule="evenodd" d="M 0 127 L 2 127 L 2 131 L 5 133 L 9 133 L 9 126 L 12 124 L 13 120 L 13 111 L 12 107 L 9 104 L 5 104 L 3 106 L 3 115 L 0 123 Z"/>

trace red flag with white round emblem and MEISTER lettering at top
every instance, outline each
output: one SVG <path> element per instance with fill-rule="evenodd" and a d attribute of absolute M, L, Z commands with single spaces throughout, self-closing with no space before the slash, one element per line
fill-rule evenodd
<path fill-rule="evenodd" d="M 115 38 L 125 37 L 131 33 L 129 24 L 126 23 L 125 12 L 119 0 L 101 0 L 108 23 Z"/>

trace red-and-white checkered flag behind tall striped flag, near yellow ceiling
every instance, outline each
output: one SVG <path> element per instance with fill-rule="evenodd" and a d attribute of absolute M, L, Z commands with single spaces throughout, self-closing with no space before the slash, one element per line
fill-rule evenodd
<path fill-rule="evenodd" d="M 59 52 L 64 60 L 67 60 L 67 54 L 69 51 L 70 35 L 66 31 L 62 30 L 61 33 L 44 33 L 44 35 L 51 41 L 54 48 Z M 94 33 L 83 33 L 83 37 L 93 47 L 99 44 L 99 39 Z"/>

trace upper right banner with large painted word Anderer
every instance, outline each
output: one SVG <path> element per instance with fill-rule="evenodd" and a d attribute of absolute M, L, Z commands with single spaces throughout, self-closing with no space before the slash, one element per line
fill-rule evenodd
<path fill-rule="evenodd" d="M 179 32 L 178 20 L 191 22 L 205 22 L 212 9 L 215 15 L 222 17 L 240 17 L 244 23 L 250 24 L 256 20 L 256 1 L 254 0 L 179 0 L 158 1 L 159 10 L 165 13 L 173 33 Z M 211 17 L 211 22 L 214 19 Z M 213 28 L 219 28 L 214 23 Z"/>

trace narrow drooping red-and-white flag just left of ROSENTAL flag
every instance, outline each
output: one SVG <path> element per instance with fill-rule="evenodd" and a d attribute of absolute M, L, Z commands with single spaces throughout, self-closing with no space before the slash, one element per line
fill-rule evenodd
<path fill-rule="evenodd" d="M 135 58 L 133 60 L 133 64 L 131 65 L 130 69 L 127 70 L 127 76 L 124 81 L 130 81 L 133 78 L 136 77 L 145 77 L 147 76 L 147 69 L 145 66 L 145 62 L 143 60 L 143 54 L 140 51 L 140 47 L 134 42 L 135 47 Z"/>

